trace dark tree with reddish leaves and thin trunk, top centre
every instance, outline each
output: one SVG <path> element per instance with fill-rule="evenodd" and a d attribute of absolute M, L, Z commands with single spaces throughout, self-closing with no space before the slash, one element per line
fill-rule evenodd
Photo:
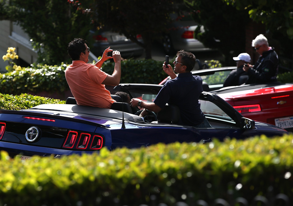
<path fill-rule="evenodd" d="M 124 34 L 145 49 L 146 59 L 151 58 L 152 42 L 168 32 L 166 25 L 176 8 L 174 0 L 90 0 L 75 4 L 77 2 L 78 9 L 90 11 L 97 29 L 110 28 Z M 141 34 L 143 43 L 137 41 L 136 34 Z"/>

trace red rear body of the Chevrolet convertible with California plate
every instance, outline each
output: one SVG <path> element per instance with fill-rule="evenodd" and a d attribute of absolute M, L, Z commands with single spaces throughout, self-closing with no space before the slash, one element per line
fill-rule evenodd
<path fill-rule="evenodd" d="M 232 86 L 212 92 L 244 117 L 293 131 L 293 83 Z"/>

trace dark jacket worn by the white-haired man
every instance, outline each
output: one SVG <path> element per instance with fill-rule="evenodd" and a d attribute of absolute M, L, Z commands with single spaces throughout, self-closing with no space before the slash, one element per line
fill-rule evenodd
<path fill-rule="evenodd" d="M 278 66 L 278 55 L 272 47 L 271 50 L 262 53 L 253 68 L 248 69 L 249 79 L 246 84 L 277 81 Z"/>

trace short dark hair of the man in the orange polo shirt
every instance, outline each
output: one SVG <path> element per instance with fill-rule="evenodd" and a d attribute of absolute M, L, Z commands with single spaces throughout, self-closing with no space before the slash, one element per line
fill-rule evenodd
<path fill-rule="evenodd" d="M 85 53 L 85 50 L 86 50 L 85 43 L 86 43 L 85 40 L 81 38 L 75 38 L 68 44 L 67 52 L 72 61 L 79 60 L 79 56 L 81 52 Z"/>

